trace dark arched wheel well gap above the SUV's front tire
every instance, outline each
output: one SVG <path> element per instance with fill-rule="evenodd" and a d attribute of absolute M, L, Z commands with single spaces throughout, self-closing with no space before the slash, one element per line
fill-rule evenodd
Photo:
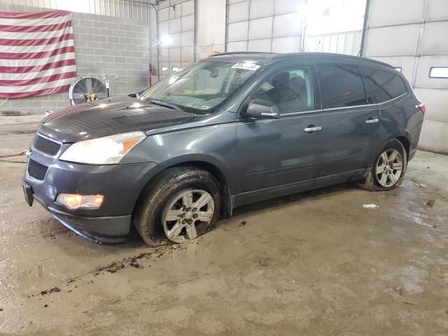
<path fill-rule="evenodd" d="M 212 165 L 209 162 L 204 161 L 186 161 L 178 163 L 176 165 L 165 167 L 165 169 L 163 169 L 162 172 L 159 172 L 156 176 L 153 176 L 153 178 L 146 184 L 146 186 L 141 191 L 139 198 L 137 199 L 137 204 L 141 200 L 142 195 L 148 192 L 148 188 L 151 188 L 151 182 L 153 182 L 157 176 L 163 174 L 167 169 L 173 167 L 195 167 L 207 170 L 207 172 L 211 173 L 218 180 L 221 188 L 221 197 L 223 202 L 222 204 L 223 206 L 221 207 L 221 216 L 223 216 L 224 218 L 229 218 L 230 216 L 232 216 L 232 201 L 230 197 L 230 189 L 228 186 L 227 179 L 225 179 L 225 175 L 223 174 L 221 169 L 219 169 L 215 165 Z"/>

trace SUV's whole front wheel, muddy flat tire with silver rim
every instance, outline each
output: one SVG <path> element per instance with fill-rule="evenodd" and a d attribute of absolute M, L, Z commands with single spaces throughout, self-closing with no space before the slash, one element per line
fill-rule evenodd
<path fill-rule="evenodd" d="M 137 232 L 148 246 L 179 244 L 202 235 L 213 228 L 221 214 L 220 189 L 215 177 L 203 169 L 195 167 L 167 169 L 145 188 L 141 200 L 137 203 L 134 210 L 134 225 Z M 206 198 L 212 200 L 200 209 L 186 208 L 183 204 L 184 200 L 187 201 L 186 204 L 190 202 L 192 206 L 199 204 L 197 201 L 200 201 L 201 197 L 203 200 Z M 169 207 L 170 205 L 172 207 Z M 176 214 L 174 221 L 165 221 L 165 218 L 171 219 L 174 216 L 171 214 L 174 213 Z M 181 231 L 178 230 L 179 225 L 183 227 Z M 178 231 L 179 235 L 174 237 L 174 233 Z M 172 235 L 171 239 L 167 234 Z M 181 236 L 185 239 L 181 239 Z"/>

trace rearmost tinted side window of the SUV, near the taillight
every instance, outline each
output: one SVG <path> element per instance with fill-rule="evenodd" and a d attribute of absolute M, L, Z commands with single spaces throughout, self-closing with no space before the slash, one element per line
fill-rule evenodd
<path fill-rule="evenodd" d="M 393 69 L 385 71 L 361 66 L 359 71 L 363 75 L 368 104 L 386 102 L 407 92 L 405 83 Z"/>

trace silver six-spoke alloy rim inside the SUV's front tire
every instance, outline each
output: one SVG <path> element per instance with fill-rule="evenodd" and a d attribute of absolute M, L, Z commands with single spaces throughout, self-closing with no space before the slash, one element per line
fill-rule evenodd
<path fill-rule="evenodd" d="M 214 215 L 213 197 L 204 190 L 183 190 L 172 197 L 162 212 L 165 236 L 174 243 L 195 239 Z"/>

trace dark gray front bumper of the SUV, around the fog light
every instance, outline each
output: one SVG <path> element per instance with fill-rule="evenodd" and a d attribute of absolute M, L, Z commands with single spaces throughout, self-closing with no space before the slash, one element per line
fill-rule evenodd
<path fill-rule="evenodd" d="M 36 200 L 54 218 L 78 235 L 102 244 L 125 241 L 132 221 L 132 212 L 146 183 L 155 174 L 154 162 L 126 165 L 80 165 L 59 161 L 37 151 L 31 160 L 48 167 L 42 181 L 25 172 L 25 198 L 31 206 Z M 71 211 L 55 202 L 59 193 L 104 195 L 99 209 Z"/>

